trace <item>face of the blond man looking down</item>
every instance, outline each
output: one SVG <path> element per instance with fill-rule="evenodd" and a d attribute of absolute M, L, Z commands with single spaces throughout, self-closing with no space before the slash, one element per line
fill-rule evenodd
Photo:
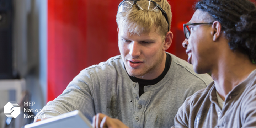
<path fill-rule="evenodd" d="M 164 39 L 152 29 L 149 34 L 130 34 L 123 26 L 118 30 L 118 47 L 130 76 L 149 79 L 159 74 L 164 61 Z"/>

